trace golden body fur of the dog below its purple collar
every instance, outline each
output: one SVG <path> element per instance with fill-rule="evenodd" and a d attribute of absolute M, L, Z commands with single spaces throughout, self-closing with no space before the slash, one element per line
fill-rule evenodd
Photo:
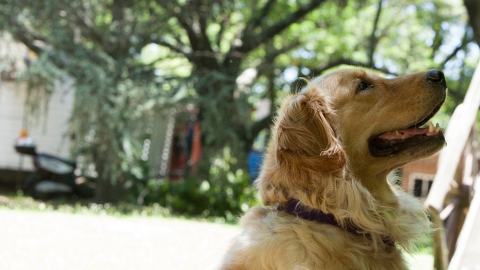
<path fill-rule="evenodd" d="M 395 246 L 375 250 L 365 237 L 276 209 L 255 207 L 241 223 L 231 251 L 242 258 L 231 269 L 407 269 Z"/>

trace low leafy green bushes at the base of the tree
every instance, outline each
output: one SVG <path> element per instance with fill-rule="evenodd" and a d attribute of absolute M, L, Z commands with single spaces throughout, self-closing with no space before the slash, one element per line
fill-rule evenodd
<path fill-rule="evenodd" d="M 148 180 L 142 187 L 147 192 L 143 203 L 158 203 L 187 216 L 220 216 L 234 221 L 256 203 L 255 191 L 249 185 L 246 171 L 231 170 L 236 162 L 225 148 L 223 156 L 204 162 L 204 167 L 200 168 L 208 169 L 206 177 L 200 172 L 183 180 Z"/>

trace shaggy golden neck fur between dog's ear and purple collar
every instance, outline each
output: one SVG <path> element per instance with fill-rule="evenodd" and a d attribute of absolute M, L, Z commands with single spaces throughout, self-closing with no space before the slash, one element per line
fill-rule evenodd
<path fill-rule="evenodd" d="M 290 198 L 295 198 L 310 209 L 333 214 L 342 227 L 354 224 L 371 237 L 374 245 L 383 245 L 387 239 L 408 249 L 413 246 L 411 240 L 429 228 L 421 203 L 390 186 L 386 173 L 382 176 L 384 178 L 368 175 L 369 178 L 360 179 L 359 176 L 367 177 L 367 174 L 357 175 L 349 170 L 334 175 L 304 172 L 303 176 L 307 175 L 305 178 L 314 185 L 288 181 L 290 186 L 287 189 L 277 186 L 278 181 L 275 180 L 285 176 L 274 167 L 264 166 L 260 181 L 257 181 L 265 205 L 285 205 Z M 302 179 L 298 175 L 293 176 L 288 179 Z M 368 185 L 370 189 L 364 185 L 375 180 L 379 184 Z"/>

